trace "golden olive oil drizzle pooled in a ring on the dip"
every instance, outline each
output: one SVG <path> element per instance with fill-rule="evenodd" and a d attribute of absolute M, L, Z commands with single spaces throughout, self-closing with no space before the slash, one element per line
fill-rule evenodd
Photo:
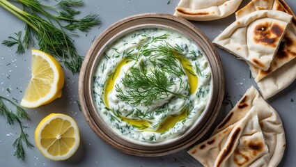
<path fill-rule="evenodd" d="M 166 35 L 162 35 L 162 39 L 165 39 Z M 153 38 L 155 39 L 155 38 Z M 146 54 L 149 55 L 150 51 L 153 49 L 146 49 L 147 45 L 144 45 L 142 48 L 139 48 L 139 54 Z M 198 74 L 196 74 L 196 70 L 193 69 L 192 64 L 189 62 L 189 60 L 185 57 L 182 56 L 179 52 L 184 51 L 182 47 L 179 45 L 176 45 L 176 47 L 172 47 L 171 45 L 168 45 L 168 43 L 165 43 L 164 45 L 160 46 L 162 48 L 160 49 L 166 49 L 163 47 L 169 47 L 169 49 L 172 50 L 173 57 L 176 58 L 180 64 L 182 65 L 182 69 L 185 71 L 185 74 L 188 77 L 188 84 L 189 84 L 189 93 L 193 95 L 196 92 L 196 88 L 198 86 Z M 142 49 L 142 50 L 141 50 Z M 156 49 L 159 49 L 157 47 Z M 163 51 L 163 50 L 162 50 Z M 127 63 L 131 63 L 132 61 L 138 61 L 139 60 L 139 54 L 137 56 L 127 56 L 126 58 L 123 58 L 118 65 L 116 65 L 116 68 L 112 74 L 109 75 L 109 78 L 107 79 L 107 82 L 105 84 L 105 89 L 104 89 L 104 104 L 107 106 L 109 109 L 109 102 L 108 102 L 108 94 L 111 92 L 111 90 L 116 87 L 114 86 L 115 80 L 122 71 L 121 68 L 123 65 L 126 65 Z M 159 54 L 162 54 L 161 52 Z M 157 56 L 157 54 L 153 55 Z M 176 73 L 177 74 L 177 73 Z M 189 102 L 190 103 L 190 102 Z M 188 113 L 189 113 L 189 103 L 185 104 L 186 107 L 184 107 L 180 113 L 174 116 L 167 116 L 164 120 L 159 122 L 159 125 L 157 125 L 157 129 L 151 128 L 152 123 L 148 120 L 143 120 L 143 119 L 131 119 L 131 118 L 126 118 L 124 116 L 118 116 L 122 121 L 127 122 L 127 124 L 132 125 L 132 127 L 135 127 L 139 130 L 143 131 L 150 131 L 150 132 L 159 132 L 159 133 L 164 133 L 171 129 L 174 125 L 176 125 L 177 122 L 180 120 L 186 120 Z"/>

